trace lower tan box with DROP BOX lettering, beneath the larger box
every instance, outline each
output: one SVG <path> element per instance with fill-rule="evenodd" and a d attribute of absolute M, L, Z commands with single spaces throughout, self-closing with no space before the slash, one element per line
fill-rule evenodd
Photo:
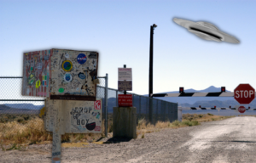
<path fill-rule="evenodd" d="M 102 99 L 96 101 L 45 99 L 44 129 L 65 133 L 102 133 Z M 55 124 L 57 121 L 58 124 Z"/>

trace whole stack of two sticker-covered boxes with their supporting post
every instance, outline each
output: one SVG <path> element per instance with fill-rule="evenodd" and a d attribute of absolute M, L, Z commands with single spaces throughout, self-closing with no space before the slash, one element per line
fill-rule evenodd
<path fill-rule="evenodd" d="M 96 99 L 99 53 L 49 49 L 23 53 L 22 95 L 45 97 L 44 127 L 53 132 L 52 163 L 61 162 L 61 135 L 102 133 Z"/>

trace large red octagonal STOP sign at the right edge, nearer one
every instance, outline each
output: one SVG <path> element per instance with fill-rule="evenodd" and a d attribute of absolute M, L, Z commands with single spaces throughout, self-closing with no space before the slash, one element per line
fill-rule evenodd
<path fill-rule="evenodd" d="M 255 90 L 250 84 L 239 84 L 234 90 L 234 98 L 239 104 L 250 104 L 255 98 Z"/>

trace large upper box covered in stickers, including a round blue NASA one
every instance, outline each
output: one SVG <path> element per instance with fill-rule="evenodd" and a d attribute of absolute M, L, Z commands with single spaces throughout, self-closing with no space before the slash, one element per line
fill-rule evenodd
<path fill-rule="evenodd" d="M 96 100 L 99 53 L 49 49 L 23 53 L 22 95 Z"/>

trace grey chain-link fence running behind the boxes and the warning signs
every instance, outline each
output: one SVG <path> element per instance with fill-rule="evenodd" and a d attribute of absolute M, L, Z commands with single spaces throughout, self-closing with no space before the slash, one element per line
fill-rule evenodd
<path fill-rule="evenodd" d="M 113 121 L 113 107 L 118 106 L 118 94 L 123 94 L 116 89 L 108 88 L 108 74 L 98 77 L 100 84 L 96 87 L 96 98 L 102 98 L 102 112 L 105 136 L 111 132 Z M 44 98 L 21 96 L 22 77 L 0 77 L 0 140 L 12 140 L 16 134 L 34 137 L 36 133 L 44 131 L 44 121 L 39 118 L 40 110 L 44 107 Z M 108 90 L 108 91 L 106 91 Z M 166 102 L 157 98 L 148 98 L 135 93 L 133 106 L 137 108 L 137 120 L 145 119 L 152 124 L 157 121 L 177 120 L 177 104 Z M 108 97 L 106 101 L 105 98 Z M 106 112 L 108 110 L 108 114 Z M 28 124 L 29 120 L 34 120 Z M 28 131 L 28 132 L 27 132 Z M 30 135 L 29 133 L 34 133 Z M 26 134 L 25 134 L 26 135 Z M 45 136 L 48 137 L 48 136 Z M 65 139 L 65 138 L 64 138 Z M 20 140 L 21 141 L 21 140 Z"/>

